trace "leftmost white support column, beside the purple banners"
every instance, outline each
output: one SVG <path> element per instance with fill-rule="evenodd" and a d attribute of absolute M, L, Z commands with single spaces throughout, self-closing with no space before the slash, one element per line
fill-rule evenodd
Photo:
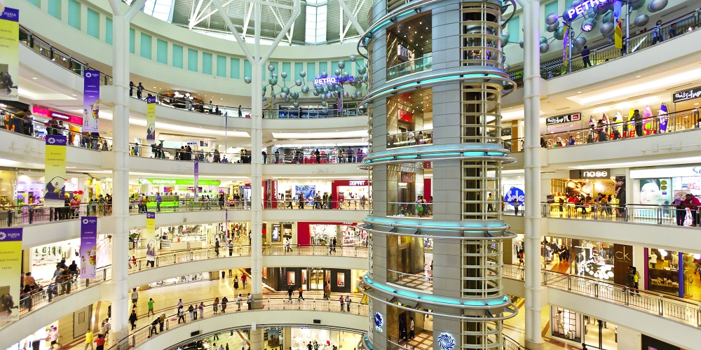
<path fill-rule="evenodd" d="M 146 0 L 135 1 L 132 8 L 122 10 L 122 3 L 110 0 L 112 8 L 112 84 L 114 85 L 114 116 L 112 120 L 112 279 L 111 285 L 111 344 L 117 344 L 129 333 L 129 23 Z"/>

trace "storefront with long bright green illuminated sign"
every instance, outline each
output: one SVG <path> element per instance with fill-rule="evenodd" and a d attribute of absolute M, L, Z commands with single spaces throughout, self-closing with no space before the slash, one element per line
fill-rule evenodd
<path fill-rule="evenodd" d="M 219 180 L 203 180 L 197 182 L 198 195 L 217 197 L 219 195 Z M 167 195 L 180 195 L 185 199 L 193 200 L 195 197 L 194 179 L 139 179 L 141 193 L 161 193 Z"/>

